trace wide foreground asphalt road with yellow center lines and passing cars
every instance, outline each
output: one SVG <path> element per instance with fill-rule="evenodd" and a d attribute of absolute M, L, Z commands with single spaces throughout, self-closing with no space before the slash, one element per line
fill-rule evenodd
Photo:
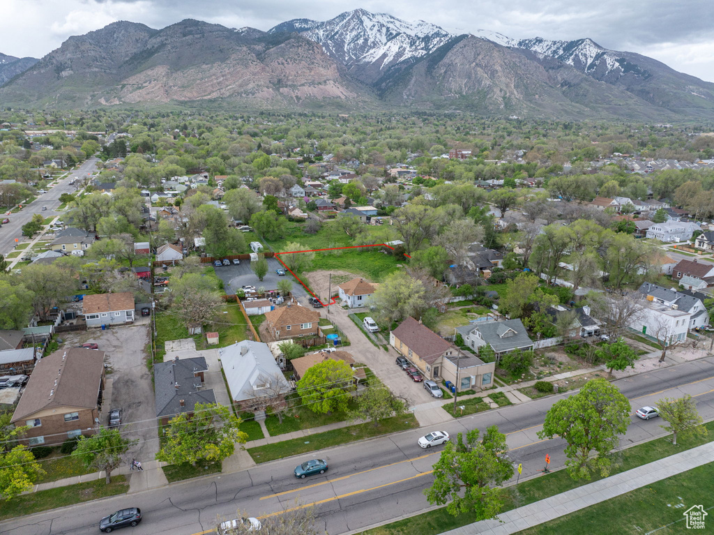
<path fill-rule="evenodd" d="M 695 396 L 700 414 L 714 419 L 714 358 L 680 364 L 615 383 L 632 401 L 633 411 L 655 404 L 660 396 Z M 508 406 L 496 411 L 450 421 L 438 428 L 456 434 L 496 424 L 508 435 L 514 464 L 523 464 L 521 478 L 543 469 L 550 454 L 551 469 L 563 466 L 563 441 L 541 441 L 537 431 L 550 406 L 563 396 Z M 623 444 L 662 436 L 661 421 L 630 418 Z M 431 466 L 440 447 L 423 450 L 416 440 L 430 429 L 405 431 L 368 442 L 339 446 L 316 454 L 297 456 L 255 466 L 236 474 L 194 479 L 129 496 L 93 501 L 0 523 L 9 535 L 94 534 L 101 516 L 116 509 L 139 506 L 144 521 L 122 533 L 195 535 L 212 533 L 218 516 L 233 517 L 236 510 L 250 516 L 317 503 L 321 527 L 331 535 L 397 519 L 428 507 L 423 489 L 431 484 Z M 324 476 L 299 480 L 293 468 L 313 457 L 326 459 Z"/>

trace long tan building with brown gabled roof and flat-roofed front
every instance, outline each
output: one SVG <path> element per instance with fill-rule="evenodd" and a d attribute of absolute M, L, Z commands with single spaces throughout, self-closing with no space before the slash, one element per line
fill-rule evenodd
<path fill-rule="evenodd" d="M 389 344 L 426 379 L 451 381 L 458 391 L 493 385 L 496 364 L 462 351 L 425 325 L 408 317 L 389 334 Z"/>

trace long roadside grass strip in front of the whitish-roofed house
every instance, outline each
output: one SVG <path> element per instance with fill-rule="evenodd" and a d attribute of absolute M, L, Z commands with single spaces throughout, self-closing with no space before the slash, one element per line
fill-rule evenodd
<path fill-rule="evenodd" d="M 388 433 L 397 433 L 406 429 L 414 429 L 419 426 L 413 414 L 406 416 L 393 416 L 392 418 L 381 420 L 378 426 L 374 424 L 357 424 L 355 426 L 343 427 L 317 433 L 299 439 L 291 439 L 276 444 L 258 446 L 248 449 L 248 453 L 256 463 L 266 463 L 275 459 L 283 459 L 296 454 L 304 454 L 308 451 L 318 451 L 331 446 L 339 446 L 348 442 L 368 439 L 371 436 L 379 436 Z"/>

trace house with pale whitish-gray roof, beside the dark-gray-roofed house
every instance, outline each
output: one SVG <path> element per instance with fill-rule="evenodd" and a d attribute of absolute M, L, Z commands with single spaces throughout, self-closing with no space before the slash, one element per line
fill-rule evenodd
<path fill-rule="evenodd" d="M 218 359 L 236 404 L 250 406 L 258 397 L 288 394 L 292 389 L 268 344 L 239 341 L 218 349 Z"/>

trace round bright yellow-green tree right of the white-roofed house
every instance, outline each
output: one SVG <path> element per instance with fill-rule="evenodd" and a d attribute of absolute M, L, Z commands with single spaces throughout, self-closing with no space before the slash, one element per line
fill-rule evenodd
<path fill-rule="evenodd" d="M 353 371 L 345 361 L 328 359 L 311 366 L 297 389 L 303 404 L 317 414 L 344 411 L 355 389 Z"/>

